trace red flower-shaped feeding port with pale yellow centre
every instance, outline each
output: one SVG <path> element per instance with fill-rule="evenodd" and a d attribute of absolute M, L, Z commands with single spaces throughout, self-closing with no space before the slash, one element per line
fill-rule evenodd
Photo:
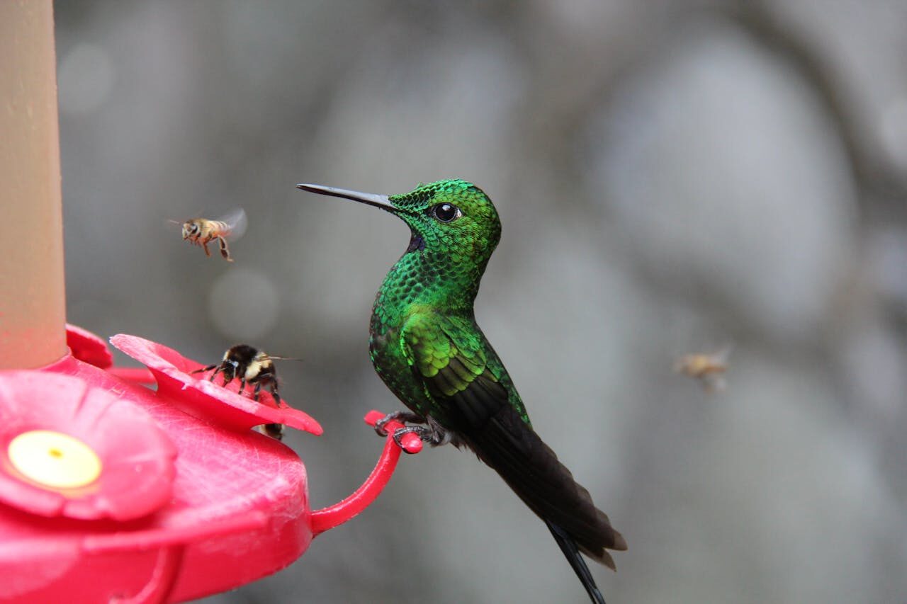
<path fill-rule="evenodd" d="M 130 401 L 66 375 L 0 375 L 0 502 L 42 516 L 141 518 L 171 498 L 176 449 Z"/>

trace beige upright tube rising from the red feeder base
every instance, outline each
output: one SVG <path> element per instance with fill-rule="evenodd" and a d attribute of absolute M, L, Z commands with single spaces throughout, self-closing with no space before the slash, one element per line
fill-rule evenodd
<path fill-rule="evenodd" d="M 66 354 L 54 7 L 0 0 L 0 369 Z"/>

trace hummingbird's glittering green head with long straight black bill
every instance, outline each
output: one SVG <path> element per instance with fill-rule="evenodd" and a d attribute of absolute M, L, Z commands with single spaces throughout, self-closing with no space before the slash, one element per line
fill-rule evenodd
<path fill-rule="evenodd" d="M 484 268 L 501 239 L 501 221 L 492 200 L 465 180 L 438 180 L 400 195 L 375 195 L 321 185 L 297 188 L 360 201 L 403 219 L 413 231 L 407 251 L 427 250 L 456 263 Z"/>

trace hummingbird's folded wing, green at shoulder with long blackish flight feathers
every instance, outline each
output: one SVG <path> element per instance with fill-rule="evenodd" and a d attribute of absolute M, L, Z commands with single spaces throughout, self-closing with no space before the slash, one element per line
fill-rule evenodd
<path fill-rule="evenodd" d="M 404 326 L 401 343 L 434 400 L 434 420 L 467 443 L 550 527 L 613 569 L 606 548 L 626 550 L 626 541 L 532 430 L 519 395 L 478 326 L 471 319 L 416 315 Z"/>

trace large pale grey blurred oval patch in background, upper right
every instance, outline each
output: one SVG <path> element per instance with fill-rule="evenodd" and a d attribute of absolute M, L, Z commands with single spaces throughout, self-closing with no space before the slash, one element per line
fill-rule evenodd
<path fill-rule="evenodd" d="M 796 73 L 699 22 L 601 117 L 593 190 L 652 278 L 785 343 L 814 337 L 853 254 L 853 182 Z"/>

